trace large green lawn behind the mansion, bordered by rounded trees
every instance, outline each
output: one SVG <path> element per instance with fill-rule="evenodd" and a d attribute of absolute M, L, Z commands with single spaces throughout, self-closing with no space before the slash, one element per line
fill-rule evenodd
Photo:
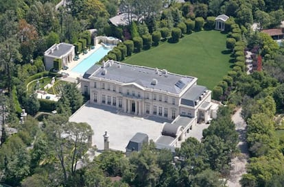
<path fill-rule="evenodd" d="M 226 51 L 226 34 L 202 31 L 186 35 L 176 44 L 164 42 L 123 62 L 198 77 L 198 84 L 212 90 L 230 69 L 230 54 L 222 51 Z"/>

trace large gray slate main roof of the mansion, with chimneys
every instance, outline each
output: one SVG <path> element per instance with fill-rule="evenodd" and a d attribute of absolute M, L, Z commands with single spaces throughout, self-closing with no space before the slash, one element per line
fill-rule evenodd
<path fill-rule="evenodd" d="M 110 64 L 110 61 L 106 62 L 106 64 Z M 104 74 L 103 71 L 106 73 Z M 194 79 L 194 77 L 164 73 L 161 70 L 157 71 L 155 68 L 113 61 L 111 66 L 106 65 L 105 68 L 97 69 L 91 77 L 113 80 L 121 84 L 136 83 L 144 88 L 163 90 L 173 94 L 179 94 Z M 156 85 L 152 84 L 154 79 L 157 81 Z"/>

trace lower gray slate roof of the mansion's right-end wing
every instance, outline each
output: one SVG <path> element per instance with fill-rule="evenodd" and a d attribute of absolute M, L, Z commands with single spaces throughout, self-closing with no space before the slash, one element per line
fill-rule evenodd
<path fill-rule="evenodd" d="M 182 105 L 189 105 L 189 106 L 196 106 L 195 101 L 199 100 L 199 97 L 205 92 L 207 88 L 205 86 L 194 85 L 185 92 L 180 100 L 180 104 Z"/>

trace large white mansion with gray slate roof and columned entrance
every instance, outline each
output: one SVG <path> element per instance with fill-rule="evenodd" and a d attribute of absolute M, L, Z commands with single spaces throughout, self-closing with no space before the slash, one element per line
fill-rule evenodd
<path fill-rule="evenodd" d="M 137 116 L 173 120 L 181 115 L 207 123 L 215 112 L 211 110 L 211 91 L 197 85 L 196 77 L 158 68 L 108 60 L 89 68 L 80 84 L 91 103 Z"/>

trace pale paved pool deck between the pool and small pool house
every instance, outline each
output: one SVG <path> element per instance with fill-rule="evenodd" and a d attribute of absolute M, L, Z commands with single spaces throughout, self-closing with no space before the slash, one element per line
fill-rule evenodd
<path fill-rule="evenodd" d="M 84 60 L 85 58 L 88 58 L 89 55 L 93 54 L 95 51 L 97 51 L 97 49 L 99 49 L 100 47 L 102 47 L 102 45 L 100 44 L 97 44 L 95 45 L 95 49 L 90 49 L 90 50 L 87 50 L 88 53 L 84 54 L 84 53 L 81 53 L 79 55 L 79 60 L 73 60 L 71 63 L 68 63 L 68 69 L 67 70 L 61 70 L 59 73 L 68 73 L 69 76 L 67 78 L 73 80 L 73 79 L 76 79 L 77 77 L 82 77 L 83 75 L 80 74 L 80 73 L 75 73 L 73 71 L 71 71 L 75 66 L 77 66 L 78 64 L 80 64 L 80 62 L 82 62 L 82 60 Z M 69 79 L 65 78 L 67 81 Z M 73 81 L 72 81 L 73 82 Z"/>

